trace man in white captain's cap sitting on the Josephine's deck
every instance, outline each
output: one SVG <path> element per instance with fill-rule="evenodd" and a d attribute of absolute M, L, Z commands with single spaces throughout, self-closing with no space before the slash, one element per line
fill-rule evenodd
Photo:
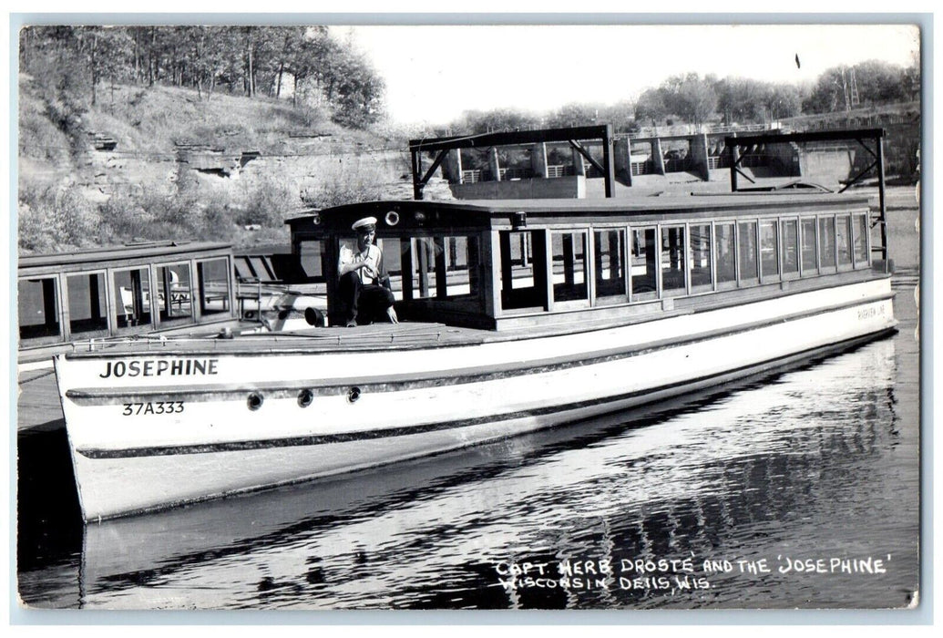
<path fill-rule="evenodd" d="M 340 299 L 347 307 L 347 327 L 372 323 L 383 313 L 393 324 L 399 323 L 393 309 L 395 299 L 389 290 L 389 275 L 383 267 L 383 252 L 373 244 L 376 218 L 364 217 L 354 222 L 356 248 L 348 243 L 340 246 L 338 260 Z"/>

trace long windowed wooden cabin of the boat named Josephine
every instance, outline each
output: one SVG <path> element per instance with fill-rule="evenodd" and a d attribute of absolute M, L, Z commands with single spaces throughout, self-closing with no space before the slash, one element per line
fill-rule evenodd
<path fill-rule="evenodd" d="M 368 202 L 287 220 L 343 325 L 341 243 L 377 219 L 401 320 L 502 330 L 644 320 L 874 277 L 866 196 Z"/>

